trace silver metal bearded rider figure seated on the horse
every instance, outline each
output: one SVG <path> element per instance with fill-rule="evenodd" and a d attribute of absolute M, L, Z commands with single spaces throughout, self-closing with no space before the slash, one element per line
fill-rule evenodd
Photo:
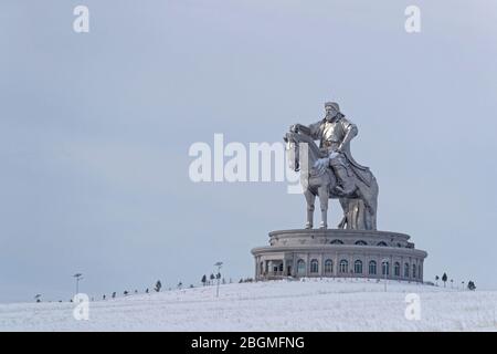
<path fill-rule="evenodd" d="M 321 121 L 309 126 L 296 124 L 290 129 L 296 133 L 303 132 L 314 139 L 320 140 L 319 147 L 327 156 L 325 160 L 329 162 L 329 166 L 338 179 L 338 186 L 334 192 L 347 196 L 355 188 L 349 164 L 357 164 L 350 156 L 349 143 L 357 135 L 358 129 L 355 124 L 345 118 L 338 103 L 327 102 L 325 110 L 326 116 Z"/>

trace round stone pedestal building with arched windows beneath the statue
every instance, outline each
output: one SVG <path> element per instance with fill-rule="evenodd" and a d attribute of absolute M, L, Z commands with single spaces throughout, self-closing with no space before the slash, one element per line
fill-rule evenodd
<path fill-rule="evenodd" d="M 329 277 L 423 281 L 427 253 L 390 231 L 296 229 L 269 232 L 269 246 L 252 250 L 255 279 Z"/>

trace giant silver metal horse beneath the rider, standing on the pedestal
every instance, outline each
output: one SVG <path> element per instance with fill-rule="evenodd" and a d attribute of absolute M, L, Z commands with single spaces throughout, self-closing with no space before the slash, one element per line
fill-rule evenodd
<path fill-rule="evenodd" d="M 340 229 L 377 229 L 377 206 L 378 206 L 378 183 L 371 174 L 369 185 L 361 178 L 352 176 L 352 191 L 348 195 L 335 195 L 338 183 L 331 168 L 319 168 L 318 160 L 324 158 L 334 158 L 338 153 L 327 156 L 325 152 L 314 142 L 313 137 L 304 133 L 286 133 L 284 140 L 286 143 L 286 154 L 288 166 L 295 171 L 300 171 L 300 184 L 304 189 L 304 196 L 307 201 L 307 222 L 306 229 L 313 228 L 313 217 L 315 210 L 316 197 L 319 197 L 321 209 L 321 222 L 319 228 L 328 228 L 328 200 L 329 198 L 339 199 L 343 209 L 343 217 L 338 225 Z M 304 143 L 304 144 L 303 144 Z M 307 156 L 300 157 L 300 153 Z M 321 164 L 322 165 L 322 164 Z"/>

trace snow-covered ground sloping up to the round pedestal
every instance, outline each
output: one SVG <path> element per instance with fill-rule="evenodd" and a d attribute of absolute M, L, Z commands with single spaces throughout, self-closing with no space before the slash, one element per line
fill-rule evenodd
<path fill-rule="evenodd" d="M 406 320 L 405 295 L 421 320 Z M 497 291 L 366 280 L 272 281 L 166 291 L 89 303 L 0 304 L 0 331 L 497 331 Z"/>

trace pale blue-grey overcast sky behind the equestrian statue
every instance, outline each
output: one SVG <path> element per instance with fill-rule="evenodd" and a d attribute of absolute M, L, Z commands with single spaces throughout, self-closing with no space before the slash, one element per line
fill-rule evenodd
<path fill-rule="evenodd" d="M 73 9 L 89 8 L 89 33 Z M 421 8 L 422 31 L 404 31 Z M 425 280 L 497 288 L 497 2 L 0 2 L 0 301 L 253 277 L 300 228 L 285 183 L 193 184 L 194 142 L 281 142 L 337 101 L 380 185 L 378 226 Z M 336 225 L 340 208 L 331 204 Z"/>

